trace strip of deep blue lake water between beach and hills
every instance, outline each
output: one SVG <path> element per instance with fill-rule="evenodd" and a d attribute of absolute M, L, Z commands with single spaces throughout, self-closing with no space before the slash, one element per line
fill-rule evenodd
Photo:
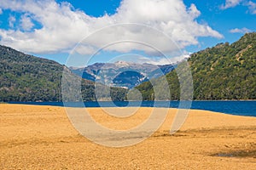
<path fill-rule="evenodd" d="M 170 107 L 170 108 L 188 108 L 190 102 L 179 101 L 90 101 L 90 102 L 9 102 L 10 104 L 25 104 L 25 105 L 54 105 L 67 107 Z M 240 116 L 256 116 L 256 101 L 193 101 L 190 109 L 217 111 L 226 114 L 240 115 Z M 256 122 L 255 122 L 256 123 Z"/>

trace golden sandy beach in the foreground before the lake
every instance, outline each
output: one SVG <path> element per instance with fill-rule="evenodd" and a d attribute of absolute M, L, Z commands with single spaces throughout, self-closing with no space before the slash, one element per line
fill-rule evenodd
<path fill-rule="evenodd" d="M 125 130 L 145 121 L 152 108 L 139 108 L 127 118 L 101 108 L 87 111 L 103 126 Z M 65 108 L 1 104 L 0 169 L 255 169 L 256 117 L 191 110 L 183 127 L 170 135 L 176 111 L 169 109 L 150 138 L 112 148 L 79 134 Z"/>

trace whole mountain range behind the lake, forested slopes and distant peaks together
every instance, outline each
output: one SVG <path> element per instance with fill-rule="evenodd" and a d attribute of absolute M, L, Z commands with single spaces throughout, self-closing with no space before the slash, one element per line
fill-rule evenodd
<path fill-rule="evenodd" d="M 191 54 L 187 61 L 193 77 L 193 99 L 256 99 L 256 32 L 247 33 L 232 44 L 219 43 Z M 182 65 L 183 62 L 173 66 L 119 61 L 69 69 L 53 60 L 0 45 L 0 101 L 61 101 L 61 90 L 72 88 L 61 89 L 63 71 L 73 77 L 67 84 L 81 85 L 82 100 L 109 100 L 106 95 L 109 86 L 113 86 L 109 88 L 113 100 L 127 99 L 127 88 L 140 91 L 143 100 L 153 100 L 154 86 L 148 80 L 161 84 L 163 77 L 171 97 L 166 98 L 163 91 L 160 99 L 180 99 L 176 69 Z M 97 97 L 96 86 L 101 89 L 97 90 Z M 76 101 L 77 98 L 70 94 L 64 100 Z"/>

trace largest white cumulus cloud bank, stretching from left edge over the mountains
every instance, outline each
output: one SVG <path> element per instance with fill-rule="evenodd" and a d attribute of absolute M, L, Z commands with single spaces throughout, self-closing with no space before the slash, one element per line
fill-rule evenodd
<path fill-rule="evenodd" d="M 210 26 L 196 21 L 201 13 L 195 4 L 188 8 L 180 0 L 123 0 L 116 14 L 105 14 L 102 17 L 89 16 L 86 11 L 74 9 L 70 3 L 56 3 L 54 0 L 2 0 L 0 8 L 24 14 L 20 19 L 23 30 L 0 29 L 1 43 L 30 53 L 69 51 L 82 38 L 96 30 L 120 23 L 139 23 L 165 32 L 181 48 L 197 44 L 197 37 L 223 37 Z M 33 28 L 32 20 L 40 23 L 42 27 Z M 119 39 L 159 42 L 161 50 L 172 50 L 172 47 L 166 47 L 163 39 L 150 29 L 124 25 L 108 27 L 107 31 L 87 41 L 87 46 L 79 50 L 83 49 L 83 53 L 87 54 L 93 48 L 101 48 L 106 42 Z M 109 49 L 126 52 L 142 50 L 143 46 L 127 42 Z M 143 50 L 147 52 L 148 48 Z M 148 52 L 150 53 L 150 49 Z"/>

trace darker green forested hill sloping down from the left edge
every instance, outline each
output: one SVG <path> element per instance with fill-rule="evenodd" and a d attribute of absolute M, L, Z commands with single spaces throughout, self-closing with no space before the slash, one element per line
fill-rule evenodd
<path fill-rule="evenodd" d="M 62 90 L 70 91 L 73 83 L 81 85 L 83 100 L 96 100 L 95 82 L 81 79 L 65 66 L 0 45 L 0 101 L 61 101 L 61 78 L 63 73 L 70 77 Z M 107 89 L 101 84 L 97 87 Z M 106 90 L 105 90 L 106 91 Z M 98 94 L 105 97 L 104 90 Z M 113 100 L 124 100 L 126 90 L 111 88 Z M 68 93 L 67 93 L 68 94 Z M 66 100 L 77 100 L 73 94 L 65 96 Z"/>

